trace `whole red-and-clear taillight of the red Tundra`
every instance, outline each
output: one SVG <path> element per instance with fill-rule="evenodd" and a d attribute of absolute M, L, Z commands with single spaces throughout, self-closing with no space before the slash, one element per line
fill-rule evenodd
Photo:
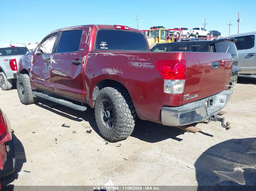
<path fill-rule="evenodd" d="M 186 78 L 185 60 L 158 60 L 156 68 L 165 79 L 164 92 L 167 94 L 182 94 Z"/>

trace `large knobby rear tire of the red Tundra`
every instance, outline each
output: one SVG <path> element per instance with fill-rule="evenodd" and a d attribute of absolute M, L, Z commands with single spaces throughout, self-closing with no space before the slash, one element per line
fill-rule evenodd
<path fill-rule="evenodd" d="M 102 108 L 104 102 L 111 103 L 113 126 L 104 124 Z M 102 107 L 102 108 L 101 108 Z M 105 112 L 106 116 L 106 112 Z M 125 139 L 131 135 L 135 126 L 136 112 L 128 91 L 122 87 L 106 87 L 99 91 L 95 101 L 95 119 L 101 135 L 110 142 Z"/>

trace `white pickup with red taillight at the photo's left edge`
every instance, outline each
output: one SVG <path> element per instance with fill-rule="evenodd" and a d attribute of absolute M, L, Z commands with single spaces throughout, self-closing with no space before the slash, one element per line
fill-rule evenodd
<path fill-rule="evenodd" d="M 19 59 L 29 53 L 25 46 L 0 46 L 0 86 L 11 90 L 17 77 Z"/>

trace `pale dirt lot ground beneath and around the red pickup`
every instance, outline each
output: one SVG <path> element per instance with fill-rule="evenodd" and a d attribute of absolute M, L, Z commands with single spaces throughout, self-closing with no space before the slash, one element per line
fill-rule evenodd
<path fill-rule="evenodd" d="M 129 138 L 107 145 L 93 109 L 80 112 L 42 99 L 23 105 L 16 89 L 0 90 L 15 135 L 16 173 L 31 172 L 1 184 L 256 185 L 256 79 L 240 78 L 233 90 L 224 108 L 228 131 L 220 122 L 200 123 L 202 130 L 193 134 L 136 119 Z"/>

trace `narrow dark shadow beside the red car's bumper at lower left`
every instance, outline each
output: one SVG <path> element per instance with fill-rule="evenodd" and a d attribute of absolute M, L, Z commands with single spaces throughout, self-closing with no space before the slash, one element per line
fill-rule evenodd
<path fill-rule="evenodd" d="M 14 132 L 12 134 L 12 138 L 14 140 L 15 145 L 16 171 L 13 174 L 9 175 L 8 177 L 5 177 L 2 180 L 0 180 L 2 188 L 8 190 L 13 190 L 14 185 L 12 185 L 11 183 L 14 180 L 18 179 L 17 173 L 21 171 L 23 164 L 27 162 L 24 147 L 20 140 L 15 136 Z"/>

